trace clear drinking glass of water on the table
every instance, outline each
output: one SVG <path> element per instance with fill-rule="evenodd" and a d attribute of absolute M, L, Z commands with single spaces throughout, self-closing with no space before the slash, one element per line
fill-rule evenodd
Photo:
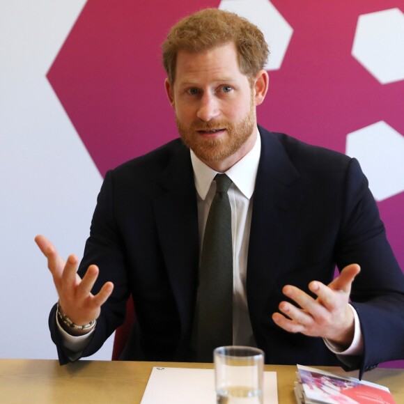
<path fill-rule="evenodd" d="M 218 404 L 263 404 L 264 352 L 248 346 L 214 351 Z"/>

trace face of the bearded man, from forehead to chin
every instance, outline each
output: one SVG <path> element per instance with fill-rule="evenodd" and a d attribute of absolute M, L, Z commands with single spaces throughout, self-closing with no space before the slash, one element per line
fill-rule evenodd
<path fill-rule="evenodd" d="M 182 141 L 208 166 L 224 171 L 254 146 L 254 88 L 227 44 L 201 53 L 180 51 L 166 90 Z"/>

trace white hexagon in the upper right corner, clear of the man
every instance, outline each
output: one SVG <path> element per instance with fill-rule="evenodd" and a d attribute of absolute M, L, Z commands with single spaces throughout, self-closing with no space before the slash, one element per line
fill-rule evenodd
<path fill-rule="evenodd" d="M 352 56 L 381 84 L 404 80 L 404 13 L 391 8 L 359 15 Z"/>

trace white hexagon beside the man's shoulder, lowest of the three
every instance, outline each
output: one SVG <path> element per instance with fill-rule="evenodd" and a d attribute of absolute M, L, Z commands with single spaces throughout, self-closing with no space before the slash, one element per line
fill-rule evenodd
<path fill-rule="evenodd" d="M 348 134 L 346 154 L 359 160 L 376 201 L 404 191 L 404 137 L 384 121 Z"/>

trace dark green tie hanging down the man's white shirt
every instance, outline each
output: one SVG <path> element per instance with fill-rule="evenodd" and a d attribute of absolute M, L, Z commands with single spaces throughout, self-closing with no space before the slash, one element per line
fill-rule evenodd
<path fill-rule="evenodd" d="M 233 247 L 228 188 L 231 179 L 217 174 L 203 236 L 192 348 L 196 361 L 212 362 L 213 350 L 233 345 Z"/>

